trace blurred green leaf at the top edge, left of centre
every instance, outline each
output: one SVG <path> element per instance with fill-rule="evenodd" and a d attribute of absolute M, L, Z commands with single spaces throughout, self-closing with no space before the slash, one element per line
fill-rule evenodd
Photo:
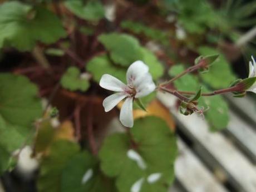
<path fill-rule="evenodd" d="M 100 1 L 69 0 L 65 2 L 65 6 L 77 17 L 88 21 L 99 21 L 104 18 L 104 7 Z"/>

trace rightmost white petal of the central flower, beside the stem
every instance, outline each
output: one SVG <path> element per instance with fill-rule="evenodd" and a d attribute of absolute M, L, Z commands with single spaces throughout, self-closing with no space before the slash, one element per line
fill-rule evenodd
<path fill-rule="evenodd" d="M 135 98 L 144 97 L 155 90 L 156 86 L 152 80 L 150 73 L 146 73 L 143 80 L 135 87 L 136 95 Z"/>

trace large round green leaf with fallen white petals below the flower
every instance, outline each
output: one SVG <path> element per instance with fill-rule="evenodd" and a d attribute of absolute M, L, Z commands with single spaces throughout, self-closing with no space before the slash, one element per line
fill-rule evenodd
<path fill-rule="evenodd" d="M 145 117 L 135 120 L 126 134 L 113 134 L 104 142 L 100 151 L 101 168 L 104 173 L 116 177 L 116 186 L 120 192 L 131 191 L 136 181 L 143 179 L 141 192 L 166 191 L 174 179 L 174 160 L 177 154 L 176 140 L 165 121 L 157 117 Z M 136 161 L 130 152 L 139 154 Z M 142 163 L 141 163 L 142 161 Z M 158 173 L 154 183 L 147 181 L 149 175 Z"/>

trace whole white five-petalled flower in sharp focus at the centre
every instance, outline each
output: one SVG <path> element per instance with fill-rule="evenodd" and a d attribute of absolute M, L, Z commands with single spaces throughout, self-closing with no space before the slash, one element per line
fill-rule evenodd
<path fill-rule="evenodd" d="M 149 95 L 155 90 L 155 83 L 149 73 L 149 67 L 142 61 L 135 61 L 130 65 L 126 72 L 127 85 L 116 77 L 105 74 L 102 75 L 100 86 L 107 90 L 116 91 L 103 101 L 106 112 L 113 109 L 119 102 L 126 98 L 120 111 L 120 121 L 126 127 L 134 125 L 132 115 L 132 101 L 135 98 Z"/>

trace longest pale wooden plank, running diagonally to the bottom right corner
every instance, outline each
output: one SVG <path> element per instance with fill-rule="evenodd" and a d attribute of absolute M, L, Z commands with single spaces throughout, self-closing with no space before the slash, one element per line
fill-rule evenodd
<path fill-rule="evenodd" d="M 227 141 L 227 139 L 218 132 L 211 133 L 206 122 L 196 114 L 184 116 L 177 112 L 174 103 L 174 97 L 167 93 L 159 93 L 159 99 L 165 106 L 170 107 L 176 121 L 184 133 L 190 137 L 193 142 L 199 145 L 197 152 L 204 156 L 213 169 L 223 169 L 228 175 L 230 183 L 239 191 L 256 191 L 256 170 L 250 161 Z"/>

